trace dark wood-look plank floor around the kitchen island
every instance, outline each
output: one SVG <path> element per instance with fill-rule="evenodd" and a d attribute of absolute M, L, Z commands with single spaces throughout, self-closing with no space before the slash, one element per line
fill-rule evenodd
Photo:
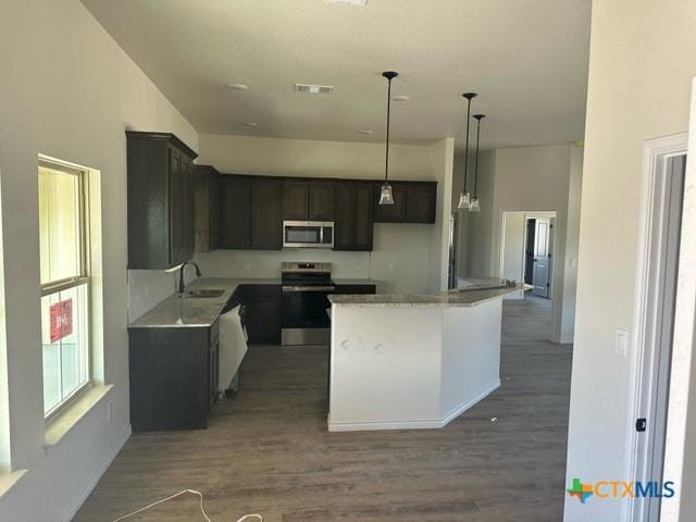
<path fill-rule="evenodd" d="M 444 430 L 330 434 L 327 349 L 254 346 L 209 430 L 133 436 L 75 520 L 191 488 L 213 522 L 558 522 L 571 347 L 526 338 L 549 327 L 535 304 L 505 303 L 502 385 Z M 185 496 L 132 520 L 203 519 Z"/>

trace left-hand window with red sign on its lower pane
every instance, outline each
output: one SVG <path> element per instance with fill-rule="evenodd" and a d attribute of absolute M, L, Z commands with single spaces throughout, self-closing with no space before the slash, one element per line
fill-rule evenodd
<path fill-rule="evenodd" d="M 39 161 L 44 413 L 90 382 L 86 173 Z"/>

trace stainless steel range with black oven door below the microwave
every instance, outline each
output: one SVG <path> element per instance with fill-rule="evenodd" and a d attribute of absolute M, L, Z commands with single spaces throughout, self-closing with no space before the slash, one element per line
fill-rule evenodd
<path fill-rule="evenodd" d="M 331 341 L 331 307 L 334 293 L 331 263 L 287 263 L 281 268 L 283 284 L 281 341 L 283 345 L 327 345 Z"/>

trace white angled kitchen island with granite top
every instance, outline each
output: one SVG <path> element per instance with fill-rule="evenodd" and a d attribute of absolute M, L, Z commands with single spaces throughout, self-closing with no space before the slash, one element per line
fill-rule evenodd
<path fill-rule="evenodd" d="M 328 430 L 444 427 L 500 385 L 502 297 L 527 288 L 331 296 Z"/>

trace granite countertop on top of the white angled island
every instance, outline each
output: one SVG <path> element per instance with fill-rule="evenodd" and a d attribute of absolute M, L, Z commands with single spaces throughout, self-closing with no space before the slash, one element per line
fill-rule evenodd
<path fill-rule="evenodd" d="M 492 299 L 498 299 L 508 294 L 524 291 L 530 285 L 517 284 L 511 287 L 490 288 L 470 286 L 467 288 L 443 291 L 439 294 L 407 295 L 407 294 L 376 294 L 376 295 L 336 295 L 328 296 L 333 304 L 340 307 L 475 307 Z"/>

